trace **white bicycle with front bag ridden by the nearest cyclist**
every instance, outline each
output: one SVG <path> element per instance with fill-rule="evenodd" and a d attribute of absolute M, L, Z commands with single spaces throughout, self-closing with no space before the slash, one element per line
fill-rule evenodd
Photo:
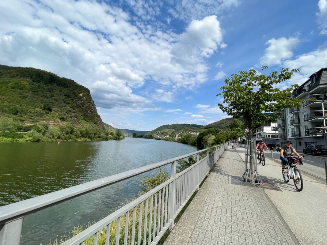
<path fill-rule="evenodd" d="M 304 157 L 304 156 L 303 156 Z M 297 165 L 302 165 L 301 156 L 287 156 L 288 164 L 286 164 L 285 169 L 286 172 L 283 172 L 283 179 L 285 183 L 288 183 L 290 179 L 293 179 L 294 186 L 298 191 L 301 191 L 303 189 L 303 179 L 302 174 L 299 171 Z M 283 166 L 283 162 L 282 162 Z M 298 182 L 298 183 L 296 183 Z"/>

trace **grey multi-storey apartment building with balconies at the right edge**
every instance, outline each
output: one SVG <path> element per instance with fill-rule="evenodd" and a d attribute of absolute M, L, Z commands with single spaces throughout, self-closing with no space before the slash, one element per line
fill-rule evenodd
<path fill-rule="evenodd" d="M 327 68 L 312 74 L 293 91 L 293 97 L 305 102 L 301 107 L 285 108 L 278 116 L 276 144 L 291 140 L 298 152 L 310 144 L 327 145 Z"/>

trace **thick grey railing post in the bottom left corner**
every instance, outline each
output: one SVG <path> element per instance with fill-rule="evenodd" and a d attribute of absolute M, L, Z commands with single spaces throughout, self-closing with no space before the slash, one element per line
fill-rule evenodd
<path fill-rule="evenodd" d="M 23 228 L 23 218 L 9 221 L 0 226 L 0 245 L 19 245 Z"/>

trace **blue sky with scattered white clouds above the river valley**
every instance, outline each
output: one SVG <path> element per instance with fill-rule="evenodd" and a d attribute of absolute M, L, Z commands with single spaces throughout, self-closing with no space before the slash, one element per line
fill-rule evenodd
<path fill-rule="evenodd" d="M 102 121 L 153 130 L 207 125 L 224 79 L 267 65 L 327 67 L 327 0 L 1 0 L 0 64 L 87 87 Z"/>

